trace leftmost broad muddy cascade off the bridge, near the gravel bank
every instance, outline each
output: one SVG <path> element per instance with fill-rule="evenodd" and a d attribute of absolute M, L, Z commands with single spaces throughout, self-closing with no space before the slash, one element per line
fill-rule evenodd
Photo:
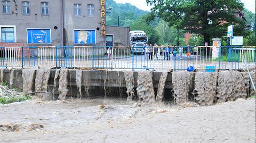
<path fill-rule="evenodd" d="M 28 94 L 33 91 L 33 86 L 35 82 L 35 69 L 24 69 L 22 70 L 23 79 L 23 94 Z"/>

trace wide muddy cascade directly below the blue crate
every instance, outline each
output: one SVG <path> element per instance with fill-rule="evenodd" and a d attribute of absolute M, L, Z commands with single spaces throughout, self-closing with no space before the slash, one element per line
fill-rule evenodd
<path fill-rule="evenodd" d="M 196 102 L 202 106 L 213 105 L 216 99 L 217 72 L 196 72 Z"/>

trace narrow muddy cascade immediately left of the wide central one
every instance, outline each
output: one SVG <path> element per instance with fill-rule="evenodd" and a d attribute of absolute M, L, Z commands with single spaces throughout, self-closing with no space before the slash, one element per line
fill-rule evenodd
<path fill-rule="evenodd" d="M 126 82 L 126 93 L 128 95 L 127 100 L 131 101 L 134 96 L 134 78 L 133 71 L 123 71 L 124 79 Z"/>

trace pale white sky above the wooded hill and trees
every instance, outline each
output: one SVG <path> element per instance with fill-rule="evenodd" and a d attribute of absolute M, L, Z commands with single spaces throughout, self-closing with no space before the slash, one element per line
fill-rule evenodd
<path fill-rule="evenodd" d="M 150 11 L 150 6 L 147 6 L 146 0 L 114 0 L 117 3 L 130 3 L 137 6 L 141 10 Z M 241 0 L 246 9 L 255 13 L 255 0 Z"/>

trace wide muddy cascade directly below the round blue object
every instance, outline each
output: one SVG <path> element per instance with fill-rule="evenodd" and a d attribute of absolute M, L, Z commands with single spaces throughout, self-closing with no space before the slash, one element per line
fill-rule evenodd
<path fill-rule="evenodd" d="M 172 72 L 172 84 L 175 103 L 181 105 L 188 102 L 190 86 L 193 84 L 194 72 Z"/>

